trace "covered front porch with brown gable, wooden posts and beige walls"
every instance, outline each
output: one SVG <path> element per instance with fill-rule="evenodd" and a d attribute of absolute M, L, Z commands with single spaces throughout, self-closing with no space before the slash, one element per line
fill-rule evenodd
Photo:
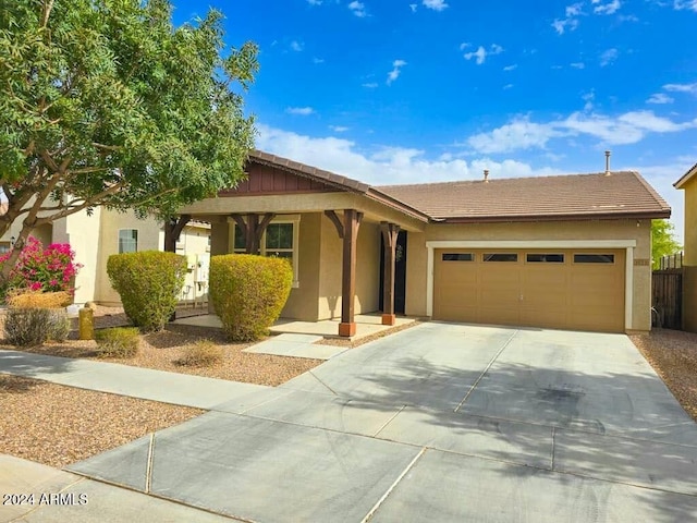
<path fill-rule="evenodd" d="M 399 325 L 405 234 L 421 233 L 428 217 L 355 180 L 259 151 L 250 154 L 247 172 L 239 186 L 182 212 L 211 224 L 211 256 L 246 253 L 291 263 L 293 288 L 281 315 L 293 319 L 283 332 L 353 340 Z M 381 316 L 365 316 L 378 311 Z"/>

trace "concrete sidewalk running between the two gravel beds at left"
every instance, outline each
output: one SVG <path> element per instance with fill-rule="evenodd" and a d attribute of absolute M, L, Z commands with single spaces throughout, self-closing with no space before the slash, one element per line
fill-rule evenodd
<path fill-rule="evenodd" d="M 261 385 L 166 373 L 118 363 L 2 350 L 0 374 L 206 410 L 211 410 L 223 401 L 271 389 Z"/>

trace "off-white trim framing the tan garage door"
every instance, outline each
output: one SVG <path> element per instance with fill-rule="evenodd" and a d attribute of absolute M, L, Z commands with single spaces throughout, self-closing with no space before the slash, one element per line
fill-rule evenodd
<path fill-rule="evenodd" d="M 636 240 L 433 240 L 426 242 L 426 316 L 433 316 L 433 251 L 436 248 L 625 248 L 624 328 L 632 329 L 634 300 L 634 247 Z"/>

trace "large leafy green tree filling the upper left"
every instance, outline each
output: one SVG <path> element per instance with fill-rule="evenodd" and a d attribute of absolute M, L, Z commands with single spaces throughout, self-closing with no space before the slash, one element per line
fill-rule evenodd
<path fill-rule="evenodd" d="M 164 218 L 234 186 L 257 69 L 254 44 L 225 47 L 215 10 L 175 27 L 169 0 L 3 1 L 0 234 L 21 220 L 21 247 L 99 205 Z"/>

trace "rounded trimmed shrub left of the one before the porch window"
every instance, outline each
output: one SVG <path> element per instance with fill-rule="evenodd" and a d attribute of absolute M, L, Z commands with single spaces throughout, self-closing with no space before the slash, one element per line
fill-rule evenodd
<path fill-rule="evenodd" d="M 107 262 L 107 273 L 133 325 L 145 332 L 157 331 L 174 313 L 186 276 L 186 258 L 160 251 L 113 254 Z"/>

